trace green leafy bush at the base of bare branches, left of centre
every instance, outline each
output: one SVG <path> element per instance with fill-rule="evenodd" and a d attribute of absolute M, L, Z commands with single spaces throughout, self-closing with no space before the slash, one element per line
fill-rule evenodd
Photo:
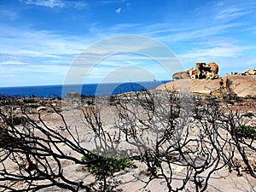
<path fill-rule="evenodd" d="M 130 158 L 102 157 L 91 152 L 84 155 L 82 160 L 91 161 L 87 166 L 88 172 L 96 175 L 99 179 L 111 176 L 114 172 L 124 170 L 126 167 L 133 167 L 133 163 Z"/>

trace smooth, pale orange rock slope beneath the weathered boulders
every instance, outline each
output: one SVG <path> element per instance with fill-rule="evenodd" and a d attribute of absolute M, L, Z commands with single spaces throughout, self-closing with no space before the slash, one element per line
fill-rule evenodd
<path fill-rule="evenodd" d="M 227 75 L 220 79 L 178 79 L 161 84 L 156 90 L 190 91 L 215 94 L 228 91 L 236 96 L 256 96 L 256 76 Z"/>

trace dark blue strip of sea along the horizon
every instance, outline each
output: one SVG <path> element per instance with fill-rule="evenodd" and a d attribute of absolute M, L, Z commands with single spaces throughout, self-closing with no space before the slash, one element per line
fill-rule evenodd
<path fill-rule="evenodd" d="M 24 87 L 2 87 L 0 94 L 4 96 L 38 96 L 38 97 L 65 97 L 68 93 L 79 92 L 84 96 L 115 95 L 132 90 L 150 90 L 163 82 L 139 82 L 124 84 L 70 84 L 70 85 L 44 85 Z"/>

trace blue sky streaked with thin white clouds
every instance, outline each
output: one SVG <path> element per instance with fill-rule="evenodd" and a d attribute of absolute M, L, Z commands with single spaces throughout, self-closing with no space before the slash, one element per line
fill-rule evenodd
<path fill-rule="evenodd" d="M 198 61 L 243 72 L 256 67 L 255 10 L 255 0 L 0 0 L 0 87 L 169 80 Z"/>

